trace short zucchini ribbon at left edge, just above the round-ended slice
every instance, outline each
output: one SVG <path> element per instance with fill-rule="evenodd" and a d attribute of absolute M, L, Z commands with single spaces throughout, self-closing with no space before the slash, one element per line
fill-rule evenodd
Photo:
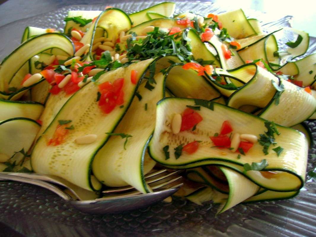
<path fill-rule="evenodd" d="M 0 121 L 17 117 L 36 120 L 43 110 L 42 104 L 33 101 L 0 100 Z"/>

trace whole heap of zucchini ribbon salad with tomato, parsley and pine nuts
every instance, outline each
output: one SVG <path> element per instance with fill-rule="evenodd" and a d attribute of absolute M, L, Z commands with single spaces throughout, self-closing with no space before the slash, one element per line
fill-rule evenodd
<path fill-rule="evenodd" d="M 219 213 L 297 195 L 313 145 L 302 122 L 316 118 L 316 54 L 296 59 L 308 34 L 264 33 L 241 9 L 174 9 L 69 11 L 64 33 L 27 27 L 0 67 L 0 169 L 97 193 L 148 193 L 147 173 L 181 169 L 175 195 Z"/>

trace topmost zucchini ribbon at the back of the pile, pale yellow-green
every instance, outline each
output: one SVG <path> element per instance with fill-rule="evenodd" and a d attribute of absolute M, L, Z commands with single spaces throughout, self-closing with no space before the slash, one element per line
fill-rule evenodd
<path fill-rule="evenodd" d="M 157 18 L 157 17 L 152 18 L 151 17 L 152 15 L 149 15 L 149 13 L 160 14 L 163 17 L 173 16 L 175 6 L 176 6 L 176 4 L 172 3 L 172 2 L 159 3 L 155 6 L 151 6 L 149 8 L 143 9 L 141 11 L 132 13 L 129 15 L 129 17 L 131 18 L 133 25 L 136 26 L 136 25 L 143 23 L 144 21 L 149 21 L 151 19 Z M 159 18 L 161 18 L 161 17 L 159 17 Z"/>

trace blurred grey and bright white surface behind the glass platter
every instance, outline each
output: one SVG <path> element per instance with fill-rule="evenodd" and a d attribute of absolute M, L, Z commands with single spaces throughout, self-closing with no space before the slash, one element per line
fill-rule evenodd
<path fill-rule="evenodd" d="M 68 5 L 110 4 L 120 2 L 125 2 L 125 0 L 0 0 L 0 26 Z M 294 16 L 291 21 L 292 27 L 304 30 L 308 32 L 310 36 L 316 37 L 315 0 L 202 0 L 201 2 L 213 2 L 228 6 L 229 9 L 249 8 L 259 10 L 280 16 L 279 18 L 285 15 L 292 15 Z"/>

